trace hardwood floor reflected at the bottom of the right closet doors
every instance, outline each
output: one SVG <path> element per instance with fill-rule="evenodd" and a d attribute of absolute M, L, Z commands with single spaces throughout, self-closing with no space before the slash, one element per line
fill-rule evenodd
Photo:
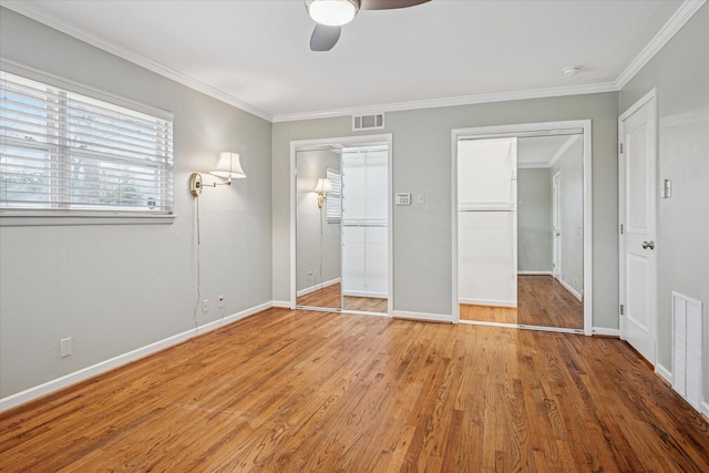
<path fill-rule="evenodd" d="M 517 308 L 461 304 L 463 320 L 584 328 L 584 305 L 551 276 L 517 276 Z"/>

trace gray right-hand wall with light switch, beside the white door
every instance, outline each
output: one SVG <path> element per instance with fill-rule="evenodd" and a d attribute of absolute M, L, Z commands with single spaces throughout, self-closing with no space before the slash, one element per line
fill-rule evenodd
<path fill-rule="evenodd" d="M 705 304 L 703 393 L 709 394 L 709 6 L 620 91 L 620 112 L 653 88 L 659 110 L 658 353 L 671 370 L 671 291 Z M 658 183 L 659 185 L 659 183 Z"/>

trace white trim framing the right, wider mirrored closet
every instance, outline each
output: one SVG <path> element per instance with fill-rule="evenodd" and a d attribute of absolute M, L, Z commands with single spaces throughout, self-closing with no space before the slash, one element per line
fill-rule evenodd
<path fill-rule="evenodd" d="M 584 154 L 584 335 L 593 335 L 593 202 L 592 202 L 592 126 L 590 120 L 561 122 L 523 123 L 499 126 L 455 128 L 451 132 L 451 223 L 452 223 L 452 312 L 453 322 L 459 323 L 459 276 L 458 276 L 458 140 L 461 137 L 502 137 L 554 130 L 583 128 Z"/>

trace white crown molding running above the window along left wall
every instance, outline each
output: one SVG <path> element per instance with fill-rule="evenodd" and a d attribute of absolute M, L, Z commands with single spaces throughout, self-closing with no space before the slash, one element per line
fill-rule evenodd
<path fill-rule="evenodd" d="M 62 33 L 69 34 L 70 37 L 73 37 L 80 41 L 83 41 L 85 43 L 89 43 L 95 48 L 99 48 L 103 51 L 106 51 L 113 55 L 116 55 L 121 59 L 124 59 L 129 62 L 132 62 L 133 64 L 140 65 L 144 69 L 147 69 L 148 71 L 152 71 L 158 75 L 162 75 L 164 78 L 171 79 L 177 83 L 181 83 L 189 89 L 193 89 L 197 92 L 202 92 L 205 95 L 208 95 L 213 99 L 216 99 L 220 102 L 224 102 L 226 104 L 233 105 L 239 110 L 243 110 L 244 112 L 248 112 L 253 115 L 256 115 L 260 119 L 267 120 L 269 122 L 273 121 L 273 115 L 270 113 L 267 113 L 260 109 L 255 107 L 251 104 L 248 104 L 246 102 L 243 102 L 238 99 L 236 99 L 233 95 L 229 95 L 227 93 L 225 93 L 224 91 L 220 91 L 216 88 L 213 88 L 212 85 L 207 85 L 204 82 L 201 82 L 187 74 L 183 74 L 182 72 L 177 72 L 172 68 L 168 68 L 164 64 L 161 64 L 160 62 L 155 62 L 151 59 L 147 59 L 138 53 L 136 53 L 135 51 L 131 51 L 131 50 L 126 50 L 113 44 L 109 44 L 105 43 L 94 37 L 88 35 L 88 34 L 83 34 L 80 33 L 69 27 L 66 27 L 65 24 L 58 22 L 55 20 L 52 20 L 50 18 L 47 18 L 44 16 L 38 14 L 37 12 L 32 11 L 31 9 L 27 8 L 27 6 L 24 4 L 24 2 L 22 1 L 18 1 L 18 0 L 9 0 L 9 1 L 2 1 L 1 3 L 2 7 L 8 8 L 17 13 L 20 13 L 24 17 L 28 17 L 32 20 L 39 21 L 42 24 L 45 24 L 50 28 L 53 28 L 54 30 L 61 31 Z"/>

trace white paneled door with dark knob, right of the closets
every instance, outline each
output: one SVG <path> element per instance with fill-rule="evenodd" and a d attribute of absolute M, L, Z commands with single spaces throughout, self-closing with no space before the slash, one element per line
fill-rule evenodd
<path fill-rule="evenodd" d="M 620 338 L 655 364 L 657 338 L 657 99 L 618 120 Z"/>

